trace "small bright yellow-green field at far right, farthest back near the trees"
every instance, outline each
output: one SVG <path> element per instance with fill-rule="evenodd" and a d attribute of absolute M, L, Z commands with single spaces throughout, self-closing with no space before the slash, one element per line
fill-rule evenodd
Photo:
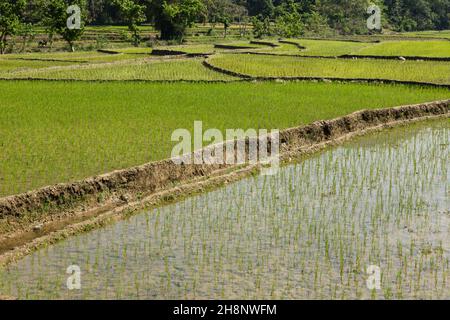
<path fill-rule="evenodd" d="M 361 55 L 450 57 L 450 41 L 387 41 L 363 48 Z"/>

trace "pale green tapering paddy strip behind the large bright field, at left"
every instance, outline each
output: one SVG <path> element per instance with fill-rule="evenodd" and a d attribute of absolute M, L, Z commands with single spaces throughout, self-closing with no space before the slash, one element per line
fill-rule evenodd
<path fill-rule="evenodd" d="M 127 63 L 82 65 L 16 72 L 13 78 L 76 80 L 234 80 L 234 77 L 212 71 L 201 59 L 140 59 Z"/>

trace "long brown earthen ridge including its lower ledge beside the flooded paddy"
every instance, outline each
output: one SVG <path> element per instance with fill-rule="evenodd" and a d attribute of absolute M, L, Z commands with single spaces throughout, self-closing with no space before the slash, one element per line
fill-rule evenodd
<path fill-rule="evenodd" d="M 362 110 L 333 120 L 280 132 L 282 161 L 314 152 L 355 135 L 411 121 L 448 117 L 450 100 Z M 248 152 L 249 140 L 246 152 Z M 224 142 L 225 146 L 229 142 Z M 233 142 L 234 143 L 234 142 Z M 236 144 L 234 144 L 236 146 Z M 267 145 L 270 148 L 270 145 Z M 13 226 L 0 234 L 0 265 L 13 261 L 42 244 L 87 231 L 119 219 L 126 210 L 162 204 L 236 181 L 257 170 L 257 165 L 177 165 L 171 159 L 118 170 L 82 181 L 48 186 L 0 199 L 0 223 Z M 233 171 L 234 170 L 234 171 Z M 86 217 L 86 219 L 81 219 Z M 76 220 L 79 218 L 79 220 Z M 61 223 L 73 219 L 71 223 Z M 41 224 L 36 228 L 37 223 Z M 55 224 L 55 228 L 46 225 Z M 14 228 L 15 224 L 15 228 Z"/>

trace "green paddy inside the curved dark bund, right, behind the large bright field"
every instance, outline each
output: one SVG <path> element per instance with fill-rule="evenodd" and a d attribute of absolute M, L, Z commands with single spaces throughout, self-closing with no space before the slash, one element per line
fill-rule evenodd
<path fill-rule="evenodd" d="M 450 83 L 450 62 L 345 60 L 222 54 L 210 58 L 220 68 L 262 77 L 329 77 Z"/>

